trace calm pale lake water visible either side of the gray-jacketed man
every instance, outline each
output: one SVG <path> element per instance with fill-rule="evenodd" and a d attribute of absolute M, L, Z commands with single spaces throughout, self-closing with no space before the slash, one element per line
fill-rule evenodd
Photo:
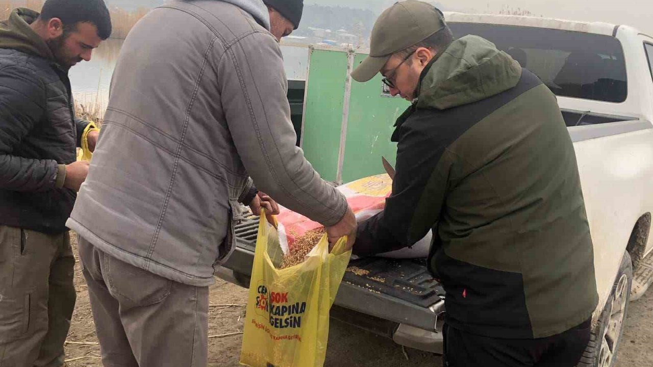
<path fill-rule="evenodd" d="M 108 39 L 93 51 L 91 61 L 82 61 L 69 72 L 75 101 L 87 110 L 103 115 L 109 98 L 111 76 L 116 67 L 123 40 Z M 285 72 L 289 79 L 306 80 L 308 46 L 281 45 Z M 162 76 L 165 77 L 165 76 Z"/>

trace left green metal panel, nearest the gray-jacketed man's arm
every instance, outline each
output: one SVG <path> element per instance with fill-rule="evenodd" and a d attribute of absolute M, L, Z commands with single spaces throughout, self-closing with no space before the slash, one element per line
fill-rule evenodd
<path fill-rule="evenodd" d="M 306 88 L 302 149 L 327 181 L 336 181 L 347 80 L 347 52 L 312 50 Z"/>

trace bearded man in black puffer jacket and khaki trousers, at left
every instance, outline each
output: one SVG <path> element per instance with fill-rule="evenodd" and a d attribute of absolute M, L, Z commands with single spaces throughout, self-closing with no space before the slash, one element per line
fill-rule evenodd
<path fill-rule="evenodd" d="M 75 290 L 65 221 L 97 130 L 76 119 L 69 69 L 111 33 L 103 0 L 47 0 L 0 23 L 0 366 L 61 366 Z"/>

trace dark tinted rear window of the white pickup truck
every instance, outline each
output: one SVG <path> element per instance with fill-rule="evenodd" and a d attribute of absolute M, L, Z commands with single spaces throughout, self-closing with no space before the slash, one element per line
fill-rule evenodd
<path fill-rule="evenodd" d="M 561 97 L 621 103 L 628 84 L 621 42 L 614 37 L 511 25 L 449 23 L 454 37 L 496 44 Z"/>

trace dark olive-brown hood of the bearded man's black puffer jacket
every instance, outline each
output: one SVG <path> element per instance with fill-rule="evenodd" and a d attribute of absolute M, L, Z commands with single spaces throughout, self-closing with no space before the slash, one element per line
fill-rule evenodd
<path fill-rule="evenodd" d="M 0 48 L 8 48 L 55 61 L 48 44 L 29 26 L 39 18 L 39 13 L 27 8 L 17 8 L 7 20 L 0 22 Z"/>

